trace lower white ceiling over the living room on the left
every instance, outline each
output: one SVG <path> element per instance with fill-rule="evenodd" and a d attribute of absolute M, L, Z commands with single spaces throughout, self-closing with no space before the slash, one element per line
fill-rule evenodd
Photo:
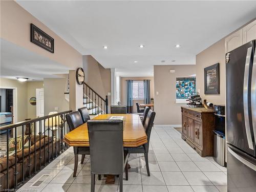
<path fill-rule="evenodd" d="M 55 78 L 67 74 L 69 69 L 47 57 L 19 47 L 3 38 L 1 40 L 0 76 L 10 79 L 27 77 L 32 80 Z"/>

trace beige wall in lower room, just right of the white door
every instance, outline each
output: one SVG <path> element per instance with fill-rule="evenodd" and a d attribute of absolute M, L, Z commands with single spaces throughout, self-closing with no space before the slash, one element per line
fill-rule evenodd
<path fill-rule="evenodd" d="M 65 99 L 66 78 L 44 79 L 45 115 L 49 112 L 63 112 L 69 110 L 69 102 Z M 81 99 L 82 103 L 82 99 Z M 54 108 L 57 107 L 58 110 Z"/>

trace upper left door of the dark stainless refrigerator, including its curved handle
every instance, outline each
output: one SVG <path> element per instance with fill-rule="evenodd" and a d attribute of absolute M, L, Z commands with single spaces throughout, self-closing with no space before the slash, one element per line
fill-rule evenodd
<path fill-rule="evenodd" d="M 226 55 L 229 57 L 226 63 L 226 140 L 253 156 L 250 82 L 254 45 L 255 42 L 250 41 Z"/>

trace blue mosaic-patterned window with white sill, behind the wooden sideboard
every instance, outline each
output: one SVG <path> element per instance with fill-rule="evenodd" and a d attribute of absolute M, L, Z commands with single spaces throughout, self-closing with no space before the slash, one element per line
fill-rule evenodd
<path fill-rule="evenodd" d="M 196 94 L 196 77 L 176 78 L 176 102 L 185 102 L 191 95 Z"/>

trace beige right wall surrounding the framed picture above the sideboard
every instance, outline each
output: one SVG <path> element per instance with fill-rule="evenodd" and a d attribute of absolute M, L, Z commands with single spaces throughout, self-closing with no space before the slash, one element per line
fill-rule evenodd
<path fill-rule="evenodd" d="M 204 68 L 220 63 L 220 94 L 204 94 Z M 225 39 L 221 39 L 214 45 L 205 49 L 196 56 L 197 90 L 202 99 L 214 104 L 225 104 L 226 95 L 226 64 L 225 64 Z"/>

